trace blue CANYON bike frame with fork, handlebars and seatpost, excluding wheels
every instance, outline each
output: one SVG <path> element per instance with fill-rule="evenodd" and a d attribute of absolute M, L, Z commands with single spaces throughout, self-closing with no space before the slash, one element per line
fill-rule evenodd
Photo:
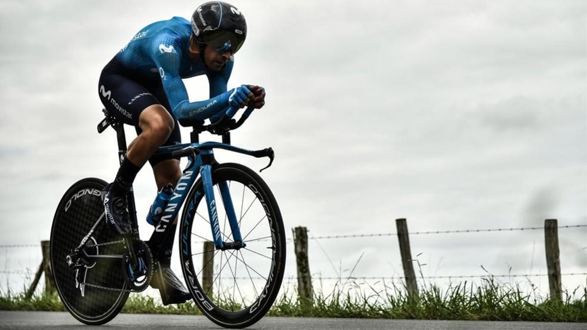
<path fill-rule="evenodd" d="M 163 146 L 158 148 L 154 153 L 161 155 L 171 155 L 172 157 L 188 157 L 188 164 L 185 167 L 180 180 L 176 184 L 176 187 L 173 191 L 173 196 L 171 196 L 167 207 L 161 215 L 161 220 L 157 223 L 155 230 L 153 231 L 153 234 L 151 235 L 151 238 L 148 242 L 149 247 L 154 254 L 153 257 L 156 259 L 158 255 L 163 252 L 161 251 L 161 244 L 167 235 L 171 234 L 171 230 L 168 230 L 171 228 L 170 224 L 173 223 L 173 220 L 177 217 L 181 206 L 185 202 L 185 198 L 187 198 L 189 190 L 194 186 L 195 180 L 198 177 L 198 173 L 200 173 L 203 182 L 205 201 L 208 208 L 208 217 L 210 218 L 210 227 L 212 231 L 212 237 L 214 238 L 215 247 L 217 249 L 226 250 L 245 246 L 245 244 L 242 243 L 241 231 L 238 228 L 237 215 L 235 214 L 234 206 L 232 205 L 232 198 L 230 196 L 230 191 L 228 190 L 228 184 L 225 181 L 218 182 L 217 184 L 218 188 L 220 189 L 220 195 L 223 202 L 222 204 L 224 204 L 224 210 L 226 211 L 228 221 L 230 223 L 233 242 L 225 242 L 222 240 L 224 234 L 221 233 L 220 224 L 218 223 L 217 203 L 214 198 L 214 185 L 212 182 L 212 166 L 217 164 L 217 161 L 214 159 L 214 151 L 212 149 L 225 149 L 237 153 L 248 154 L 249 156 L 257 158 L 269 157 L 269 165 L 264 169 L 271 166 L 271 163 L 274 159 L 274 152 L 270 147 L 262 150 L 247 150 L 232 146 L 230 144 L 230 130 L 241 126 L 242 123 L 247 120 L 249 115 L 251 115 L 251 112 L 254 110 L 254 108 L 249 106 L 248 109 L 245 110 L 245 112 L 242 114 L 238 122 L 235 122 L 232 117 L 234 117 L 235 113 L 237 113 L 237 110 L 238 107 L 229 107 L 225 115 L 220 120 L 215 123 L 211 123 L 208 126 L 203 126 L 203 122 L 180 120 L 180 124 L 182 126 L 194 127 L 194 132 L 192 132 L 191 135 L 191 143 L 177 144 L 174 146 Z M 127 149 L 122 123 L 119 122 L 116 118 L 109 116 L 106 109 L 104 109 L 103 112 L 104 115 L 106 115 L 106 118 L 98 124 L 98 132 L 102 133 L 106 127 L 112 125 L 117 133 L 119 159 L 122 162 Z M 222 142 L 224 143 L 198 143 L 198 134 L 204 130 L 208 130 L 208 132 L 212 134 L 222 135 Z M 129 201 L 129 214 L 131 216 L 131 220 L 134 222 L 134 228 L 138 228 L 136 207 L 134 205 L 132 189 L 129 191 L 127 200 Z M 136 234 L 138 235 L 138 231 L 136 231 Z M 228 236 L 224 235 L 224 237 Z"/>

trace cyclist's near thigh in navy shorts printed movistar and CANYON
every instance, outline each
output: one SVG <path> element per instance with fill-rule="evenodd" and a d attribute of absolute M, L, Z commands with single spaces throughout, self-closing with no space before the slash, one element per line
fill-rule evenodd
<path fill-rule="evenodd" d="M 121 122 L 139 126 L 141 112 L 159 101 L 140 83 L 107 68 L 102 70 L 98 84 L 102 104 L 110 115 Z"/>

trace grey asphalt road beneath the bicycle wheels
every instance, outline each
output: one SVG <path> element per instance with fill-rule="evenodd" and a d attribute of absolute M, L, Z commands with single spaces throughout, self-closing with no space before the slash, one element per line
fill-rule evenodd
<path fill-rule="evenodd" d="M 208 321 L 205 316 L 192 315 L 154 315 L 120 314 L 106 325 L 107 328 L 124 329 L 222 329 Z M 2 329 L 91 329 L 83 325 L 67 312 L 11 312 L 0 311 Z M 97 328 L 96 328 L 97 329 Z M 266 317 L 249 329 L 587 329 L 586 323 L 553 322 L 490 322 L 490 321 L 426 321 L 407 319 L 343 319 L 343 318 L 274 318 Z"/>

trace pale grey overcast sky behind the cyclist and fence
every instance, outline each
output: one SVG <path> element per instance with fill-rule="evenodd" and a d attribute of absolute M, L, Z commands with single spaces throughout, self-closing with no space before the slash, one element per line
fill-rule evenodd
<path fill-rule="evenodd" d="M 232 143 L 274 148 L 262 176 L 288 237 L 298 225 L 314 236 L 390 233 L 401 217 L 410 231 L 541 227 L 545 218 L 587 224 L 585 1 L 234 5 L 248 36 L 229 88 L 259 84 L 267 97 Z M 189 18 L 195 6 L 0 2 L 1 244 L 48 239 L 74 181 L 112 181 L 115 134 L 96 132 L 100 70 L 143 26 Z M 191 100 L 207 99 L 207 79 L 184 81 Z M 182 136 L 188 142 L 189 130 Z M 217 158 L 265 166 L 221 151 Z M 149 166 L 134 187 L 148 235 Z M 561 229 L 559 238 L 562 272 L 587 271 L 587 230 Z M 493 274 L 546 272 L 541 230 L 410 240 L 424 275 L 483 274 L 480 265 Z M 364 253 L 353 275 L 402 275 L 395 237 L 319 244 L 309 246 L 315 274 L 336 276 Z M 286 276 L 294 276 L 288 248 Z M 0 268 L 36 269 L 38 250 L 2 248 Z M 0 274 L 0 287 L 7 276 L 21 281 Z M 532 281 L 548 291 L 546 278 Z M 585 277 L 563 284 L 585 286 Z"/>

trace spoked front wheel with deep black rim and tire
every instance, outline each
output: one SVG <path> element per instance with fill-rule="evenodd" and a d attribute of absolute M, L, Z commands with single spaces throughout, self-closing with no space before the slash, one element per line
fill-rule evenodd
<path fill-rule="evenodd" d="M 240 164 L 215 165 L 212 182 L 223 241 L 232 242 L 232 236 L 217 184 L 220 180 L 229 184 L 241 237 L 247 246 L 214 250 L 207 205 L 200 203 L 205 201 L 200 178 L 188 194 L 181 216 L 181 268 L 194 302 L 205 316 L 225 328 L 245 328 L 266 314 L 281 288 L 284 224 L 271 190 L 257 173 Z M 209 251 L 204 254 L 206 245 Z M 202 283 L 204 264 L 210 260 L 214 263 L 212 289 L 203 288 Z"/>

